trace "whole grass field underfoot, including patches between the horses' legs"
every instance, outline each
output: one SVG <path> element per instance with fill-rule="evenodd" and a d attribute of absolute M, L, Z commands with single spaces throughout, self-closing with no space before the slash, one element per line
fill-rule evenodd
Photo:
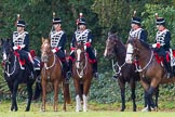
<path fill-rule="evenodd" d="M 120 104 L 96 104 L 91 102 L 90 109 L 86 113 L 76 113 L 75 103 L 67 105 L 67 112 L 63 112 L 63 104 L 58 106 L 58 112 L 53 112 L 51 103 L 46 104 L 46 112 L 40 112 L 41 102 L 32 103 L 30 112 L 24 112 L 25 102 L 18 103 L 18 112 L 10 112 L 10 101 L 0 102 L 0 117 L 175 117 L 175 105 L 171 102 L 165 106 L 161 103 L 162 109 L 150 113 L 142 113 L 142 105 L 139 104 L 137 112 L 132 112 L 132 103 L 126 104 L 126 112 L 120 112 Z"/>

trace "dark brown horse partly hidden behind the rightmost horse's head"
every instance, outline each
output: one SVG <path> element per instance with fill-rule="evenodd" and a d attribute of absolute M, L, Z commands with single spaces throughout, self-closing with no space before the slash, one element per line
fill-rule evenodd
<path fill-rule="evenodd" d="M 125 83 L 129 82 L 132 91 L 132 100 L 133 100 L 133 112 L 136 112 L 136 103 L 135 103 L 135 84 L 136 81 L 139 81 L 139 74 L 135 72 L 134 64 L 125 63 L 125 54 L 126 48 L 124 43 L 118 38 L 117 35 L 109 35 L 106 40 L 106 49 L 104 56 L 115 58 L 117 61 L 117 69 L 118 70 L 118 83 L 121 90 L 121 100 L 122 106 L 121 112 L 125 109 Z"/>

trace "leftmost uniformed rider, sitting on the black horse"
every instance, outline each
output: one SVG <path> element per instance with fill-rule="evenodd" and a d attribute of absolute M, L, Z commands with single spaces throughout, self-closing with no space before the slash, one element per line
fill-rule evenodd
<path fill-rule="evenodd" d="M 15 51 L 15 55 L 18 56 L 19 65 L 22 69 L 25 69 L 26 64 L 29 68 L 30 78 L 33 78 L 33 60 L 29 53 L 29 34 L 25 31 L 26 23 L 24 20 L 19 18 L 19 14 L 17 14 L 17 31 L 13 31 L 13 50 Z"/>

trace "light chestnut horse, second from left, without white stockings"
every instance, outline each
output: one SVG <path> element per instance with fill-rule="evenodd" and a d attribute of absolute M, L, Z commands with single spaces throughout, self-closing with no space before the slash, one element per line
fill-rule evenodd
<path fill-rule="evenodd" d="M 58 88 L 63 84 L 64 90 L 64 107 L 66 110 L 66 102 L 70 103 L 69 84 L 65 83 L 65 78 L 62 72 L 62 63 L 59 58 L 52 52 L 50 39 L 42 38 L 41 46 L 41 61 L 43 68 L 41 70 L 41 86 L 42 86 L 42 110 L 45 112 L 45 96 L 46 84 L 52 82 L 54 89 L 54 105 L 53 109 L 57 112 Z"/>

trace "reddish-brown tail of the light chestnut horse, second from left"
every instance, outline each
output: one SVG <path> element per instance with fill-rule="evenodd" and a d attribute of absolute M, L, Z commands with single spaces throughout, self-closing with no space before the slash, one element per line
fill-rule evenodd
<path fill-rule="evenodd" d="M 67 104 L 71 103 L 70 91 L 69 91 L 69 83 L 63 83 L 64 96 Z"/>

